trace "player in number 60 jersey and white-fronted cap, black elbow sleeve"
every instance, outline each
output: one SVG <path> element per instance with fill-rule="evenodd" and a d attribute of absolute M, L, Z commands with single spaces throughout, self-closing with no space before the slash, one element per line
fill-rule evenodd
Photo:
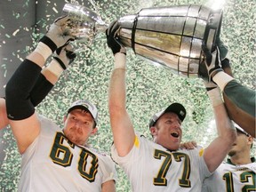
<path fill-rule="evenodd" d="M 64 33 L 64 16 L 55 20 L 6 85 L 6 110 L 22 155 L 19 191 L 116 191 L 116 169 L 111 158 L 90 147 L 88 138 L 98 130 L 98 110 L 77 100 L 64 117 L 63 129 L 36 114 L 31 100 L 44 62 L 74 36 Z M 58 60 L 58 59 L 57 59 Z M 55 66 L 61 73 L 65 66 Z"/>

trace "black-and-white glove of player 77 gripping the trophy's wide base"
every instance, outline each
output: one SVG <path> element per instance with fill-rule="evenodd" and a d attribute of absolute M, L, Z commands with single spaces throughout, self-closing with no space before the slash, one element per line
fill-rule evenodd
<path fill-rule="evenodd" d="M 202 50 L 204 52 L 204 56 L 206 57 L 206 62 L 204 62 L 204 64 L 208 72 L 208 81 L 211 82 L 212 75 L 222 71 L 220 67 L 220 51 L 219 48 L 216 47 L 214 52 L 210 52 L 205 44 L 202 44 Z"/>

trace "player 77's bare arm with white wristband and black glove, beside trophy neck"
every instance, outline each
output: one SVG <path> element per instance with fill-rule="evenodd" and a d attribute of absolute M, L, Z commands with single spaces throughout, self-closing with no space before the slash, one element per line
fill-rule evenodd
<path fill-rule="evenodd" d="M 116 41 L 117 21 L 110 24 L 107 31 L 108 46 L 115 55 L 115 65 L 109 84 L 108 108 L 114 144 L 119 156 L 126 156 L 132 149 L 135 132 L 126 111 L 125 70 L 126 51 Z"/>

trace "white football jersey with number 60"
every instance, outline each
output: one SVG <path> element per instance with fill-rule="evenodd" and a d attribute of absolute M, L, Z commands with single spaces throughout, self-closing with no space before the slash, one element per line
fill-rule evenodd
<path fill-rule="evenodd" d="M 19 191 L 101 191 L 116 180 L 110 156 L 68 141 L 60 127 L 40 116 L 41 131 L 22 155 Z"/>

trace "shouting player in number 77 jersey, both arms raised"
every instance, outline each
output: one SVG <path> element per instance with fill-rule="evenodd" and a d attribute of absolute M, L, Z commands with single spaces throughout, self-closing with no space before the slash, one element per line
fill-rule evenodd
<path fill-rule="evenodd" d="M 149 130 L 153 141 L 135 133 L 125 106 L 126 52 L 116 40 L 119 28 L 117 21 L 112 22 L 106 32 L 115 57 L 108 101 L 113 159 L 128 175 L 132 191 L 201 191 L 203 180 L 217 169 L 236 140 L 236 129 L 228 118 L 220 90 L 217 86 L 208 90 L 219 132 L 208 148 L 180 149 L 181 124 L 186 116 L 180 103 L 172 103 L 152 116 Z M 215 58 L 208 62 L 214 65 Z"/>

